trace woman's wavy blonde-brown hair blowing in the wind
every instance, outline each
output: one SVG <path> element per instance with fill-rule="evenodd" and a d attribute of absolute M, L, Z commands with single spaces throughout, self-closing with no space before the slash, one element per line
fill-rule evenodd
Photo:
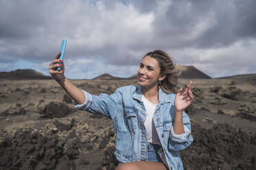
<path fill-rule="evenodd" d="M 151 58 L 158 60 L 160 74 L 166 75 L 164 80 L 159 82 L 159 87 L 162 88 L 164 93 L 176 93 L 178 77 L 180 77 L 181 71 L 175 68 L 175 63 L 173 63 L 174 58 L 172 60 L 168 53 L 159 49 L 146 53 L 143 58 L 146 56 L 150 56 Z"/>

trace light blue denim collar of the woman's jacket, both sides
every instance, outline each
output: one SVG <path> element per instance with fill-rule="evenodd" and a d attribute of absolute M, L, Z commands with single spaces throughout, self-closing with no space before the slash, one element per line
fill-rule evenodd
<path fill-rule="evenodd" d="M 168 97 L 167 93 L 164 93 L 164 91 L 162 90 L 162 88 L 158 88 L 158 103 L 159 104 L 165 104 L 168 102 L 171 102 L 171 98 Z M 138 101 L 142 101 L 141 100 L 142 97 L 142 87 L 138 86 L 136 89 L 136 92 L 132 95 L 133 99 L 137 99 Z"/>

